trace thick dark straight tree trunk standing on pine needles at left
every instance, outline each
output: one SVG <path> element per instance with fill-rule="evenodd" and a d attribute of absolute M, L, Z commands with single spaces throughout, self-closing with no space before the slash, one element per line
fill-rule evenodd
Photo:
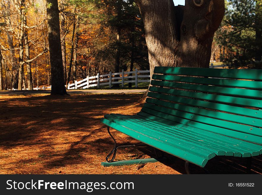
<path fill-rule="evenodd" d="M 48 41 L 51 65 L 51 95 L 66 93 L 60 38 L 59 10 L 57 0 L 46 0 Z"/>

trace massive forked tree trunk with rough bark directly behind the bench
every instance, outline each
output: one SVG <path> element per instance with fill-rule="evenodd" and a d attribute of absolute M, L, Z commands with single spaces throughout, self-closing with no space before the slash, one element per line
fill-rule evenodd
<path fill-rule="evenodd" d="M 209 67 L 224 0 L 136 0 L 146 33 L 150 74 L 155 66 Z"/>

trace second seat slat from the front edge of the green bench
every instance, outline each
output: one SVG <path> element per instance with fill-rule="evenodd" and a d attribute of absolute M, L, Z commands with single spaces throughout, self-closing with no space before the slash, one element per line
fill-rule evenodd
<path fill-rule="evenodd" d="M 123 125 L 123 126 L 129 127 L 129 128 L 130 128 L 130 125 L 131 125 L 133 131 L 136 131 L 136 132 L 141 133 L 141 134 L 145 134 L 145 128 L 138 126 L 135 123 L 132 123 L 132 124 L 127 123 L 126 121 L 121 120 L 119 118 L 116 118 L 113 115 L 105 115 L 105 118 L 107 120 L 114 122 L 114 123 L 117 123 L 118 125 Z M 211 159 L 211 158 L 216 156 L 216 154 L 208 148 L 204 149 L 204 148 L 201 148 L 197 145 L 192 145 L 191 142 L 182 142 L 181 139 L 177 139 L 175 137 L 168 137 L 165 134 L 160 134 L 159 132 L 153 131 L 153 129 L 147 128 L 145 135 L 148 136 L 148 137 L 151 137 L 153 139 L 159 140 L 160 142 L 166 142 L 166 144 L 180 148 L 182 150 L 185 150 L 185 151 L 188 150 L 188 151 L 190 151 L 190 153 L 193 153 L 197 156 L 202 156 L 202 157 L 207 158 L 207 159 Z"/>

